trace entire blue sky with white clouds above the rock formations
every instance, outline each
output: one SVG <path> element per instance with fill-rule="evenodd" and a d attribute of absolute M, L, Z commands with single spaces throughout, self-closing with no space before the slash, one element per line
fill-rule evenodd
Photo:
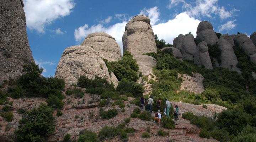
<path fill-rule="evenodd" d="M 79 45 L 92 32 L 106 32 L 122 49 L 126 23 L 147 15 L 154 33 L 166 43 L 178 34 L 196 37 L 200 21 L 222 34 L 255 32 L 255 0 L 23 0 L 27 34 L 34 60 L 43 75 L 54 76 L 62 52 Z"/>

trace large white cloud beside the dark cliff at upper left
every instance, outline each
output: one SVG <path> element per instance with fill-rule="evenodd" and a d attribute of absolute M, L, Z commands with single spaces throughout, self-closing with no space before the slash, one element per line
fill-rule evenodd
<path fill-rule="evenodd" d="M 46 25 L 70 14 L 74 0 L 24 0 L 26 24 L 31 30 L 45 33 Z"/>

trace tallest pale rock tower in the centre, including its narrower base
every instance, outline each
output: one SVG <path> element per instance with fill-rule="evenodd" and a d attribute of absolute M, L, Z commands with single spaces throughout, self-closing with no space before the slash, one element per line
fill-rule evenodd
<path fill-rule="evenodd" d="M 152 73 L 152 67 L 156 66 L 156 60 L 145 53 L 155 52 L 155 36 L 150 19 L 146 16 L 133 17 L 125 27 L 123 34 L 123 49 L 132 53 L 139 64 L 139 71 L 144 75 Z"/>

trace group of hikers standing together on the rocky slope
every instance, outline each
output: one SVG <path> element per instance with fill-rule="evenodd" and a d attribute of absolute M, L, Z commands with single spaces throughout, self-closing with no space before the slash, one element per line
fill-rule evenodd
<path fill-rule="evenodd" d="M 147 106 L 146 109 L 149 113 L 152 114 L 152 107 L 153 107 L 153 96 L 150 96 L 150 98 L 145 102 L 145 97 L 141 97 L 140 98 L 140 108 L 142 111 L 145 111 L 145 105 Z M 161 114 L 161 98 L 159 98 L 156 102 L 156 108 L 158 109 L 157 113 L 155 114 L 155 120 L 158 121 L 159 125 L 160 125 L 160 120 L 162 117 Z M 163 108 L 162 108 L 163 109 Z M 165 107 L 164 107 L 164 115 L 167 115 L 167 117 L 170 118 L 170 109 L 171 109 L 171 103 L 165 98 Z M 174 121 L 175 124 L 178 125 L 178 114 L 179 114 L 179 109 L 178 106 L 175 105 L 175 110 L 174 110 Z M 154 120 L 154 121 L 155 121 Z"/>

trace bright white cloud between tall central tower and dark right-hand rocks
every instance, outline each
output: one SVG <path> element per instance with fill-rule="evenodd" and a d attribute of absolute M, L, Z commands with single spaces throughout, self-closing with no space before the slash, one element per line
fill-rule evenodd
<path fill-rule="evenodd" d="M 172 44 L 175 37 L 179 34 L 191 34 L 196 37 L 197 26 L 200 20 L 190 17 L 187 12 L 182 12 L 174 19 L 170 19 L 166 23 L 159 23 L 152 26 L 154 34 L 158 35 L 159 39 L 164 39 L 166 43 Z"/>

